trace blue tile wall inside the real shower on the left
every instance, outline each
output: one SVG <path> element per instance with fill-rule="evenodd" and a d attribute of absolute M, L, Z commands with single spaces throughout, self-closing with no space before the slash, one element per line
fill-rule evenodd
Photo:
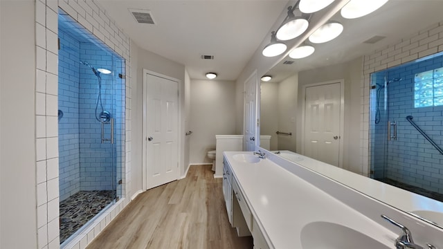
<path fill-rule="evenodd" d="M 78 42 L 63 30 L 60 33 L 59 121 L 60 201 L 80 190 L 115 190 L 122 196 L 118 180 L 125 160 L 125 62 L 106 48 Z M 73 46 L 75 44 L 75 46 Z M 114 146 L 101 143 L 101 123 L 96 120 L 102 108 L 97 107 L 99 80 L 94 68 L 107 68 L 113 73 L 100 74 L 104 111 L 114 118 Z M 105 137 L 111 137 L 111 125 L 105 124 Z"/>

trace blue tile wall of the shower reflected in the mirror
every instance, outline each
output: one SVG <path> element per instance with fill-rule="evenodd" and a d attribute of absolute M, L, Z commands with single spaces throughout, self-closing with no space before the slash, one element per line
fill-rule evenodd
<path fill-rule="evenodd" d="M 443 107 L 414 107 L 415 74 L 442 66 L 443 57 L 439 56 L 372 75 L 377 78 L 377 83 L 383 82 L 384 75 L 388 80 L 402 79 L 388 84 L 388 116 L 389 120 L 397 121 L 397 140 L 388 142 L 386 139 L 387 119 L 379 124 L 371 120 L 371 128 L 374 128 L 371 129 L 374 131 L 371 134 L 374 152 L 371 156 L 376 176 L 381 174 L 377 170 L 382 169 L 384 177 L 443 193 L 443 155 L 406 120 L 406 116 L 413 116 L 413 121 L 443 147 Z M 387 154 L 383 155 L 381 151 L 384 149 Z"/>

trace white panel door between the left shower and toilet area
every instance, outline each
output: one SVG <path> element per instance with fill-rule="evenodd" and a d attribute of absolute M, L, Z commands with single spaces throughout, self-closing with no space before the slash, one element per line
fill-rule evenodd
<path fill-rule="evenodd" d="M 179 178 L 177 82 L 150 75 L 145 82 L 146 98 L 146 186 L 147 189 Z"/>

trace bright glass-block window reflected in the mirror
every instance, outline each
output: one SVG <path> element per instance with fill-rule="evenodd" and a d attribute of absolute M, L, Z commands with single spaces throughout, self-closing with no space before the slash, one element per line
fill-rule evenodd
<path fill-rule="evenodd" d="M 414 82 L 415 108 L 443 105 L 443 68 L 417 73 Z"/>

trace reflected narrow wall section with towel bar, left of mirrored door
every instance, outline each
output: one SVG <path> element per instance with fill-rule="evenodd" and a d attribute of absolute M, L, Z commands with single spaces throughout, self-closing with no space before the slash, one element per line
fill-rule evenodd
<path fill-rule="evenodd" d="M 292 136 L 278 135 L 278 149 L 296 151 L 298 75 L 280 82 L 278 86 L 278 130 Z M 275 134 L 277 136 L 277 134 Z"/>

